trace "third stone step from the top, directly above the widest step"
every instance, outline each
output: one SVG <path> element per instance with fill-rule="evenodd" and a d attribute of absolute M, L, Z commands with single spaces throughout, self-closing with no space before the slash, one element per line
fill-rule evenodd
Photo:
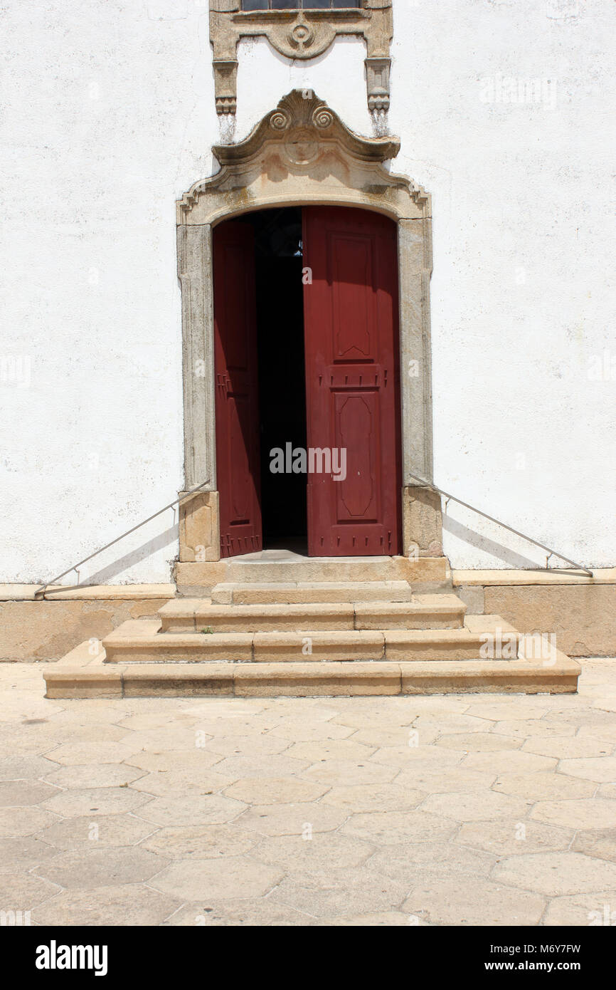
<path fill-rule="evenodd" d="M 498 617 L 482 616 L 486 627 Z M 479 659 L 484 634 L 469 629 L 276 633 L 161 633 L 159 620 L 123 623 L 103 641 L 108 663 L 317 662 Z M 518 634 L 512 634 L 516 653 Z M 502 661 L 500 661 L 502 662 Z"/>

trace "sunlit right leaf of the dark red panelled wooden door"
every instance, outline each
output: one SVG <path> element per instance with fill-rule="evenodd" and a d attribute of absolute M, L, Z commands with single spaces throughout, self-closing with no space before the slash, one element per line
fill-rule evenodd
<path fill-rule="evenodd" d="M 304 209 L 308 447 L 346 451 L 346 477 L 308 474 L 310 556 L 400 548 L 396 225 Z M 313 466 L 326 467 L 314 458 Z"/>

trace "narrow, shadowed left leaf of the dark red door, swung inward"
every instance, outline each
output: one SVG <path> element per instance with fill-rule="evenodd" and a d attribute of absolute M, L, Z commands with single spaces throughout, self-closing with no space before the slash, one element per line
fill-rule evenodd
<path fill-rule="evenodd" d="M 217 480 L 220 552 L 262 549 L 254 232 L 214 230 Z"/>

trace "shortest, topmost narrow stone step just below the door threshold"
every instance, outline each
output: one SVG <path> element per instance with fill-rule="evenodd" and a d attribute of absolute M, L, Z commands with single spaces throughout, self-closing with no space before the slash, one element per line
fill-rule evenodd
<path fill-rule="evenodd" d="M 221 582 L 212 589 L 217 605 L 309 605 L 317 602 L 409 602 L 408 581 Z"/>

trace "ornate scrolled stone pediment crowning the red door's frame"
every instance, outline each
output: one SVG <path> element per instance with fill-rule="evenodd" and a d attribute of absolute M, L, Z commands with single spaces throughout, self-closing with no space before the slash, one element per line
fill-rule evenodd
<path fill-rule="evenodd" d="M 267 206 L 322 202 L 375 209 L 395 219 L 426 219 L 427 194 L 384 162 L 396 138 L 363 138 L 311 90 L 293 90 L 236 145 L 214 153 L 220 172 L 178 202 L 178 224 L 211 224 Z"/>

